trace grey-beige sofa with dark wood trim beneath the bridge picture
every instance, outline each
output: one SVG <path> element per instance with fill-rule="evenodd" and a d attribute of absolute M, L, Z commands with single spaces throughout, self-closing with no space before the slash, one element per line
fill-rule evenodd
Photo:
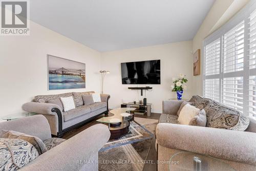
<path fill-rule="evenodd" d="M 25 103 L 22 108 L 24 111 L 44 115 L 51 127 L 51 133 L 61 137 L 63 133 L 74 129 L 102 114 L 108 114 L 108 101 L 110 95 L 101 94 L 101 102 L 90 105 L 84 105 L 82 95 L 95 93 L 90 92 L 72 92 L 56 95 L 39 95 L 35 96 L 32 102 Z M 72 96 L 75 102 L 75 109 L 63 112 L 62 108 L 53 103 L 52 99 Z"/>

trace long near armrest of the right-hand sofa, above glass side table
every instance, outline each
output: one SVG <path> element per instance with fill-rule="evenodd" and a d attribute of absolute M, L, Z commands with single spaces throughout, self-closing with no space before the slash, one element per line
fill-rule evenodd
<path fill-rule="evenodd" d="M 221 159 L 256 163 L 256 134 L 210 127 L 159 123 L 157 143 Z"/>

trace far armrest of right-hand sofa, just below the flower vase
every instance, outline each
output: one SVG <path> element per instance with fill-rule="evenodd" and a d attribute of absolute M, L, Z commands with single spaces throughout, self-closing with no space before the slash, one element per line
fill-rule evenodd
<path fill-rule="evenodd" d="M 164 100 L 163 101 L 163 113 L 169 115 L 176 115 L 180 109 L 180 105 L 183 100 Z"/>

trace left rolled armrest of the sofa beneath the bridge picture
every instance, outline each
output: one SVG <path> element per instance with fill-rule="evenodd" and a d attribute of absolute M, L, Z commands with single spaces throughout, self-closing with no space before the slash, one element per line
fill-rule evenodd
<path fill-rule="evenodd" d="M 56 115 L 55 110 L 58 109 L 62 115 L 62 111 L 60 107 L 52 103 L 28 102 L 23 104 L 22 109 L 27 112 L 33 112 L 33 113 L 44 114 L 44 115 Z"/>

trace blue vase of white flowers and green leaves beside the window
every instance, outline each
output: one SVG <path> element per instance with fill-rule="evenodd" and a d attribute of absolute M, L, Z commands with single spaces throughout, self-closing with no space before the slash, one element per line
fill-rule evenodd
<path fill-rule="evenodd" d="M 187 82 L 187 79 L 185 78 L 186 75 L 184 75 L 182 73 L 179 76 L 180 76 L 180 78 L 173 78 L 174 84 L 170 87 L 172 88 L 173 92 L 177 93 L 177 99 L 181 100 L 183 90 L 187 89 L 187 87 L 185 85 L 183 85 L 184 83 Z"/>

